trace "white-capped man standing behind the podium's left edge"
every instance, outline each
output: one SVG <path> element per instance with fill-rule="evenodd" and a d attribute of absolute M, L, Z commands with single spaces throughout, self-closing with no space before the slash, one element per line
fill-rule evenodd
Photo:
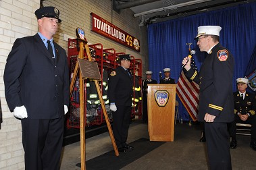
<path fill-rule="evenodd" d="M 157 84 L 157 81 L 152 79 L 151 71 L 145 74 L 147 79 L 143 80 L 143 122 L 147 123 L 147 84 Z"/>

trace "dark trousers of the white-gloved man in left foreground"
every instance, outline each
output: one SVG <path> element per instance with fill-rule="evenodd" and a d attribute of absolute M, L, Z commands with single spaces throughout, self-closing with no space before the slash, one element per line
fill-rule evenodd
<path fill-rule="evenodd" d="M 60 168 L 64 118 L 22 119 L 22 144 L 26 170 Z"/>

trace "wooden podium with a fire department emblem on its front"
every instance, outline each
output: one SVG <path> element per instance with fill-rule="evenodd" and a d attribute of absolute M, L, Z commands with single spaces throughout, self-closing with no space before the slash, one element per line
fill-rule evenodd
<path fill-rule="evenodd" d="M 176 84 L 148 84 L 150 141 L 174 141 Z"/>

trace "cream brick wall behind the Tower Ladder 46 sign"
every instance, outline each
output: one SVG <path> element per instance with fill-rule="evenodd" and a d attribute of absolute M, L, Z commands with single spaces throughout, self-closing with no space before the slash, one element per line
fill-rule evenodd
<path fill-rule="evenodd" d="M 76 38 L 76 28 L 84 29 L 88 44 L 101 43 L 103 48 L 116 49 L 117 53 L 131 53 L 143 60 L 143 72 L 147 69 L 147 27 L 139 27 L 139 18 L 134 18 L 130 9 L 120 13 L 111 11 L 111 0 L 45 0 L 44 6 L 55 6 L 62 20 L 55 41 L 68 51 L 67 37 Z M 0 169 L 24 169 L 22 128 L 20 120 L 9 111 L 4 94 L 3 72 L 11 47 L 16 38 L 31 36 L 38 32 L 34 11 L 40 0 L 0 1 L 0 97 L 3 123 L 0 129 Z M 127 49 L 108 38 L 91 31 L 91 12 L 118 26 L 140 40 L 140 53 Z"/>

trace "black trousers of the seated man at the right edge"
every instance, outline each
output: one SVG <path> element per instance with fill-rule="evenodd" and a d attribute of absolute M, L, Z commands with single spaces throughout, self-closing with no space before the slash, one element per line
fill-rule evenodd
<path fill-rule="evenodd" d="M 256 116 L 251 115 L 247 121 L 242 121 L 238 115 L 234 115 L 234 121 L 230 123 L 230 136 L 233 140 L 236 140 L 236 123 L 251 124 L 251 141 L 256 142 Z"/>

